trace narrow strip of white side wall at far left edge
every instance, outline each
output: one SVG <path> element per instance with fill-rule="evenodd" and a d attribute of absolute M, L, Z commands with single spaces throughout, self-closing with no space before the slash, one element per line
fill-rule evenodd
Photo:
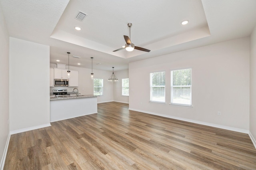
<path fill-rule="evenodd" d="M 4 166 L 4 148 L 9 134 L 9 34 L 0 3 L 0 169 Z M 6 148 L 7 152 L 7 148 Z"/>

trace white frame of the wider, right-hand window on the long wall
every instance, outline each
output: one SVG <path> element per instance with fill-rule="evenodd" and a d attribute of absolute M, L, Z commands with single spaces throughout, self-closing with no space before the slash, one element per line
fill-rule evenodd
<path fill-rule="evenodd" d="M 175 85 L 173 86 L 173 73 L 172 71 L 181 71 L 181 70 L 187 70 L 190 69 L 191 70 L 191 83 L 190 85 Z M 190 104 L 184 104 L 184 103 L 174 103 L 173 102 L 173 87 L 190 87 Z M 189 68 L 182 68 L 182 69 L 172 69 L 170 70 L 170 105 L 176 105 L 176 106 L 184 106 L 184 107 L 192 107 L 192 67 Z"/>

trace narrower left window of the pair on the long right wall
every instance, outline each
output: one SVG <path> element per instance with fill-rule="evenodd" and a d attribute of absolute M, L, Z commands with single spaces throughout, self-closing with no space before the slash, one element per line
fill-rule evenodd
<path fill-rule="evenodd" d="M 165 71 L 150 73 L 150 102 L 165 103 Z"/>

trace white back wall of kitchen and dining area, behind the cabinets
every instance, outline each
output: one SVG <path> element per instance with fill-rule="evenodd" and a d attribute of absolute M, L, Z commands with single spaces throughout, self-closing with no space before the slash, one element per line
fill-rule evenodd
<path fill-rule="evenodd" d="M 50 67 L 57 67 L 56 64 L 51 63 Z M 67 68 L 67 65 L 66 65 Z M 91 79 L 92 69 L 81 68 L 70 66 L 70 70 L 78 71 L 78 90 L 82 95 L 92 95 L 93 94 L 93 80 Z M 95 79 L 103 79 L 103 95 L 98 96 L 98 103 L 114 101 L 113 98 L 113 83 L 108 81 L 108 78 L 112 74 L 112 71 L 104 71 L 104 70 L 93 70 Z M 71 92 L 74 87 L 50 87 L 50 92 L 52 93 L 53 89 L 68 89 L 68 92 Z"/>

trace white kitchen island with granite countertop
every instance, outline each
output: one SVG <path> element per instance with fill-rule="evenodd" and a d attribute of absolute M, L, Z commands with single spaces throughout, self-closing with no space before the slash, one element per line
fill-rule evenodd
<path fill-rule="evenodd" d="M 97 113 L 96 95 L 50 97 L 50 122 Z"/>

